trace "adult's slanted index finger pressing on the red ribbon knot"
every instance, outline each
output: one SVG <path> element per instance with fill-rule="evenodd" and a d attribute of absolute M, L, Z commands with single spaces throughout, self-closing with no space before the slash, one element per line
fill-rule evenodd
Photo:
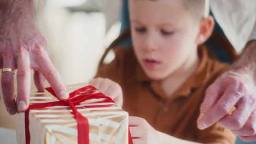
<path fill-rule="evenodd" d="M 54 67 L 51 62 L 48 53 L 44 50 L 44 47 L 36 45 L 34 50 L 37 56 L 37 64 L 39 66 L 38 70 L 43 74 L 45 79 L 49 82 L 51 87 L 54 89 L 57 97 L 59 99 L 68 99 L 69 94 L 67 88 L 62 82 L 61 75 L 59 71 Z"/>

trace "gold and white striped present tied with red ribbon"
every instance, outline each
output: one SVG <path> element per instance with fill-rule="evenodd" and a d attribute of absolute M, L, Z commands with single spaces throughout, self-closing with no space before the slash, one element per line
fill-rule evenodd
<path fill-rule="evenodd" d="M 67 87 L 73 91 L 82 85 Z M 128 113 L 112 99 L 86 86 L 59 100 L 49 93 L 32 92 L 30 106 L 18 115 L 17 143 L 132 143 Z"/>

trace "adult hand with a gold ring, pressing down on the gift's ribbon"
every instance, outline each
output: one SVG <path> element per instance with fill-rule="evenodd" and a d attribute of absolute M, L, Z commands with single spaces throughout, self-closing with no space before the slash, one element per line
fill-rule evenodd
<path fill-rule="evenodd" d="M 0 0 L 0 68 L 18 69 L 18 97 L 14 98 L 14 74 L 2 73 L 3 99 L 10 115 L 26 111 L 34 83 L 44 90 L 44 77 L 60 99 L 68 98 L 61 76 L 46 51 L 46 41 L 33 20 L 32 0 Z M 17 103 L 17 106 L 16 106 Z"/>

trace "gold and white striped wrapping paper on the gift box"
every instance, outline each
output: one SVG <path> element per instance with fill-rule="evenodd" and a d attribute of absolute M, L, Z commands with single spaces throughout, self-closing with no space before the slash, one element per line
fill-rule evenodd
<path fill-rule="evenodd" d="M 67 86 L 69 92 L 84 87 L 85 84 Z M 58 101 L 48 92 L 32 91 L 30 104 Z M 104 99 L 86 100 L 77 109 L 87 117 L 90 124 L 90 143 L 128 143 L 128 113 L 114 103 L 102 103 Z M 77 143 L 77 122 L 69 106 L 53 106 L 40 110 L 31 110 L 31 143 L 67 144 Z M 25 143 L 24 113 L 17 115 L 17 144 Z"/>

